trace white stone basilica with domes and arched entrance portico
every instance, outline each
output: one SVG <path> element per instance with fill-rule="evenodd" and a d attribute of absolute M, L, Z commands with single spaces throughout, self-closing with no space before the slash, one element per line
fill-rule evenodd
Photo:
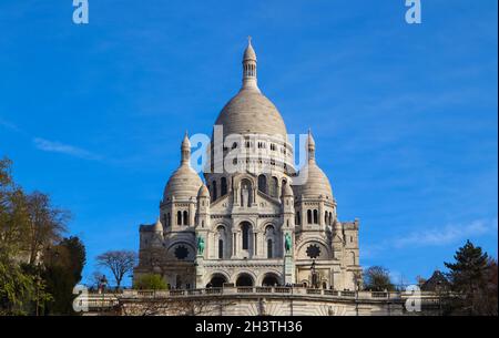
<path fill-rule="evenodd" d="M 356 290 L 361 283 L 357 219 L 340 222 L 310 132 L 306 161 L 257 84 L 251 40 L 243 83 L 218 114 L 203 178 L 187 135 L 159 217 L 140 226 L 134 280 L 159 274 L 171 289 L 305 286 Z M 327 146 L 327 145 L 325 145 Z"/>

